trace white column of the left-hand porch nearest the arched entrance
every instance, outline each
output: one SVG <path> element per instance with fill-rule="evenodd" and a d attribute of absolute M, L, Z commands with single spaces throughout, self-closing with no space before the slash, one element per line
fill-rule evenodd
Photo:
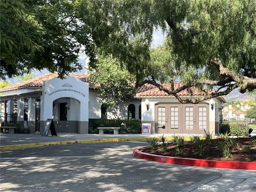
<path fill-rule="evenodd" d="M 30 129 L 30 133 L 35 133 L 36 126 L 36 99 L 29 98 L 28 99 L 28 127 Z"/>

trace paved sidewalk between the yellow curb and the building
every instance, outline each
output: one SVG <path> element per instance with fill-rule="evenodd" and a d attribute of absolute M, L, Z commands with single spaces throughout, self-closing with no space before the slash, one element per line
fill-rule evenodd
<path fill-rule="evenodd" d="M 0 134 L 0 146 L 20 145 L 27 143 L 41 143 L 54 141 L 71 141 L 71 140 L 87 140 L 87 139 L 113 139 L 113 138 L 150 138 L 159 137 L 163 134 L 77 134 L 77 133 L 58 133 L 56 136 L 42 137 L 41 134 Z M 175 134 L 178 135 L 178 134 Z M 188 134 L 179 134 L 183 137 L 189 137 Z M 173 134 L 164 134 L 165 137 L 172 137 Z"/>

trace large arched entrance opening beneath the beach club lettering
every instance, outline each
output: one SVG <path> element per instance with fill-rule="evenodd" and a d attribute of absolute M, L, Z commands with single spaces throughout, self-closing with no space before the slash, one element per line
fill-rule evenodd
<path fill-rule="evenodd" d="M 80 102 L 74 98 L 58 98 L 53 101 L 52 117 L 57 132 L 78 133 Z"/>

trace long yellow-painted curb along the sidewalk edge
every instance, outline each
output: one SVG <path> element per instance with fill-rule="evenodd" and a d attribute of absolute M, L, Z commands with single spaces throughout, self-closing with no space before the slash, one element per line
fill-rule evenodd
<path fill-rule="evenodd" d="M 0 150 L 23 149 L 23 148 L 43 147 L 43 146 L 51 146 L 51 145 L 68 145 L 68 144 L 75 144 L 75 143 L 117 142 L 117 141 L 147 141 L 147 139 L 149 139 L 149 138 L 107 138 L 107 139 L 86 139 L 86 140 L 26 143 L 26 144 L 19 144 L 19 145 L 0 146 Z M 172 139 L 173 139 L 172 137 L 166 138 L 166 140 L 172 140 Z M 189 140 L 189 138 L 185 138 L 185 140 Z"/>

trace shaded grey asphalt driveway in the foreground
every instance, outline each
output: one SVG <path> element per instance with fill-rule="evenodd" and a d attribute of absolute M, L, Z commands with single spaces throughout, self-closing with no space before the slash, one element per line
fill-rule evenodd
<path fill-rule="evenodd" d="M 146 142 L 77 143 L 0 151 L 0 190 L 239 191 L 239 185 L 248 183 L 256 174 L 133 158 L 132 149 L 145 145 Z M 252 185 L 250 182 L 247 191 L 254 190 Z"/>

